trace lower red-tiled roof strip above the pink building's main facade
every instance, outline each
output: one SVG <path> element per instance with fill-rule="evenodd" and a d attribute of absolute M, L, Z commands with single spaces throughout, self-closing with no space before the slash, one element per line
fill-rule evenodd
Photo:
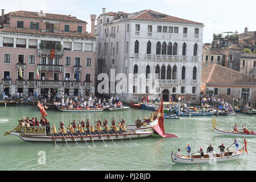
<path fill-rule="evenodd" d="M 16 32 L 23 34 L 40 34 L 40 35 L 52 35 L 52 36 L 67 36 L 73 38 L 90 38 L 96 39 L 94 36 L 85 33 L 77 32 L 42 32 L 41 30 L 27 29 L 27 28 L 3 28 L 1 32 Z"/>

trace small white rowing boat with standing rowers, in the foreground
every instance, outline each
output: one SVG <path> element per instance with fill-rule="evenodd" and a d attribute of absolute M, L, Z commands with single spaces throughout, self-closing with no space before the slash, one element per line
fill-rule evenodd
<path fill-rule="evenodd" d="M 244 152 L 244 149 L 241 148 L 240 150 L 238 150 L 237 154 L 235 154 L 234 151 L 225 152 L 224 156 L 221 156 L 220 154 L 213 154 L 213 158 L 209 158 L 209 155 L 207 154 L 207 155 L 204 155 L 203 159 L 201 159 L 201 155 L 192 155 L 192 158 L 190 159 L 184 155 L 177 156 L 172 151 L 171 158 L 173 162 L 180 163 L 180 164 L 215 163 L 215 162 L 226 162 L 230 160 L 240 159 L 243 155 L 243 152 Z"/>

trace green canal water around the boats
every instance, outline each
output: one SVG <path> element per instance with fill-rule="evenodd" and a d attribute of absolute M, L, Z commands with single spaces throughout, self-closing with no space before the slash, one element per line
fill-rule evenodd
<path fill-rule="evenodd" d="M 59 126 L 59 118 L 68 125 L 69 119 L 81 121 L 85 118 L 84 113 L 65 113 L 58 110 L 47 110 L 48 119 L 51 125 Z M 127 124 L 133 124 L 139 116 L 150 117 L 150 110 L 130 108 L 125 111 L 102 111 L 97 113 L 86 113 L 90 123 L 94 118 L 124 117 Z M 131 140 L 112 140 L 104 142 L 40 143 L 24 142 L 14 135 L 3 137 L 6 130 L 13 129 L 18 119 L 26 117 L 40 118 L 40 111 L 37 106 L 14 105 L 0 106 L 0 170 L 112 170 L 112 171 L 252 171 L 256 169 L 256 138 L 246 138 L 249 154 L 244 154 L 241 159 L 216 164 L 177 164 L 171 160 L 171 151 L 176 152 L 181 148 L 181 154 L 185 154 L 184 148 L 187 144 L 192 147 L 192 152 L 203 147 L 206 153 L 209 144 L 212 144 L 214 152 L 219 152 L 218 146 L 224 143 L 226 147 L 232 144 L 235 137 L 228 137 L 213 133 L 212 117 L 181 117 L 180 119 L 164 119 L 166 133 L 176 134 L 178 138 L 147 137 Z M 216 116 L 217 128 L 232 130 L 234 123 L 238 127 L 245 125 L 248 129 L 256 130 L 256 116 L 238 113 L 236 116 Z M 243 138 L 237 138 L 240 146 L 243 146 Z M 234 147 L 231 147 L 232 150 Z M 43 155 L 42 155 L 43 154 Z M 42 156 L 46 156 L 45 163 Z"/>

